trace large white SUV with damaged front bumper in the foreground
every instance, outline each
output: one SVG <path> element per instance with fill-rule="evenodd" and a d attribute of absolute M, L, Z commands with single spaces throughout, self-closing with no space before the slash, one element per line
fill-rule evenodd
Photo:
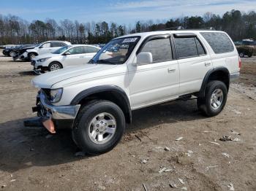
<path fill-rule="evenodd" d="M 35 77 L 32 84 L 40 90 L 33 110 L 51 133 L 71 128 L 78 147 L 99 154 L 116 146 L 135 109 L 193 95 L 203 114 L 219 114 L 240 67 L 236 47 L 222 31 L 121 36 L 89 64 Z"/>

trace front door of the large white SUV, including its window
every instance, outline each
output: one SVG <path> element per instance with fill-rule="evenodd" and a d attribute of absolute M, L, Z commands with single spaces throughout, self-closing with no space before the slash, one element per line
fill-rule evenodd
<path fill-rule="evenodd" d="M 178 62 L 173 60 L 170 36 L 148 39 L 140 52 L 151 52 L 153 63 L 128 66 L 132 109 L 170 100 L 179 91 Z"/>

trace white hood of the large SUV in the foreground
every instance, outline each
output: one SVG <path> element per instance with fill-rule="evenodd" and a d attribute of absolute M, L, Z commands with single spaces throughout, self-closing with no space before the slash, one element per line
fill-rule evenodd
<path fill-rule="evenodd" d="M 113 71 L 113 68 L 115 67 L 116 65 L 110 64 L 84 64 L 83 66 L 74 66 L 57 71 L 50 71 L 46 74 L 35 77 L 32 79 L 31 83 L 34 87 L 50 88 L 58 82 L 78 76 L 83 79 L 88 79 L 88 75 L 91 73 L 94 73 L 94 77 L 104 76 L 104 74 L 109 74 L 109 71 Z"/>

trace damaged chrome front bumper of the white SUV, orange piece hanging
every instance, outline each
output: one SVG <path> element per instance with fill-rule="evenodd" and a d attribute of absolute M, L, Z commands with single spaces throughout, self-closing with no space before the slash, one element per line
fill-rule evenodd
<path fill-rule="evenodd" d="M 43 117 L 43 125 L 50 133 L 55 133 L 58 128 L 72 128 L 75 117 L 78 114 L 80 105 L 54 106 L 48 100 L 43 90 L 39 90 L 37 95 L 37 106 L 33 107 L 33 112 L 37 112 L 39 117 Z"/>

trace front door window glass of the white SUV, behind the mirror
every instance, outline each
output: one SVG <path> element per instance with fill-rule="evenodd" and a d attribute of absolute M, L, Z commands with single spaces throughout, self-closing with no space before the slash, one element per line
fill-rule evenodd
<path fill-rule="evenodd" d="M 170 39 L 152 39 L 146 42 L 140 52 L 151 52 L 153 63 L 172 60 L 172 49 Z"/>

